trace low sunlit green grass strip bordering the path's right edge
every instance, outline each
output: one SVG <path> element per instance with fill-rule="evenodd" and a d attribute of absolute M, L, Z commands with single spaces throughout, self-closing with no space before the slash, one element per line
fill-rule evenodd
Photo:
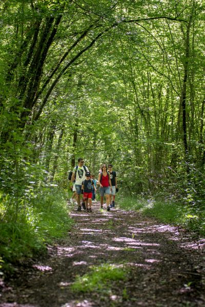
<path fill-rule="evenodd" d="M 121 209 L 139 211 L 162 223 L 181 226 L 199 236 L 205 236 L 204 207 L 140 197 L 122 197 L 118 200 L 118 205 Z"/>

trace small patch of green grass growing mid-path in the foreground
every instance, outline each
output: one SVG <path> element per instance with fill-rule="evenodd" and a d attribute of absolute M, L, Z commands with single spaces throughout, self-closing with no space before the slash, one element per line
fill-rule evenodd
<path fill-rule="evenodd" d="M 112 282 L 126 280 L 128 275 L 125 268 L 112 264 L 92 266 L 91 272 L 77 276 L 71 286 L 74 292 L 109 292 Z"/>

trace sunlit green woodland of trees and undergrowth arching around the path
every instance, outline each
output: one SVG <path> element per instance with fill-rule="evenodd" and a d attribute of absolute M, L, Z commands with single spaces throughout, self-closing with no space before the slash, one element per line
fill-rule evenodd
<path fill-rule="evenodd" d="M 0 10 L 3 267 L 71 226 L 79 157 L 95 176 L 113 164 L 122 207 L 204 234 L 204 1 L 3 0 Z"/>

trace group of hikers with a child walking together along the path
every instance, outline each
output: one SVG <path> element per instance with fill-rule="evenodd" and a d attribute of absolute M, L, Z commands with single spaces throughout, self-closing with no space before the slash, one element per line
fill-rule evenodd
<path fill-rule="evenodd" d="M 110 211 L 110 208 L 115 207 L 115 193 L 117 191 L 117 176 L 116 172 L 112 170 L 112 164 L 109 164 L 108 167 L 103 164 L 99 170 L 98 180 L 96 180 L 94 175 L 91 176 L 84 162 L 83 158 L 78 159 L 78 165 L 74 167 L 71 176 L 72 199 L 76 199 L 77 211 L 81 211 L 80 195 L 83 195 L 83 209 L 87 212 L 92 211 L 92 201 L 96 201 L 97 185 L 99 185 L 100 206 L 103 208 L 105 196 L 107 210 Z"/>

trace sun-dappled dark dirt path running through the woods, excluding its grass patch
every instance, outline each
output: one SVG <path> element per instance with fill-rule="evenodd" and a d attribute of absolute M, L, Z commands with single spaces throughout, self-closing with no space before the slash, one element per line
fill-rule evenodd
<path fill-rule="evenodd" d="M 73 208 L 76 224 L 68 237 L 2 284 L 1 307 L 205 305 L 205 240 L 194 242 L 189 233 L 137 212 L 99 207 Z M 72 291 L 76 275 L 102 264 L 126 267 L 127 279 L 103 291 Z"/>

